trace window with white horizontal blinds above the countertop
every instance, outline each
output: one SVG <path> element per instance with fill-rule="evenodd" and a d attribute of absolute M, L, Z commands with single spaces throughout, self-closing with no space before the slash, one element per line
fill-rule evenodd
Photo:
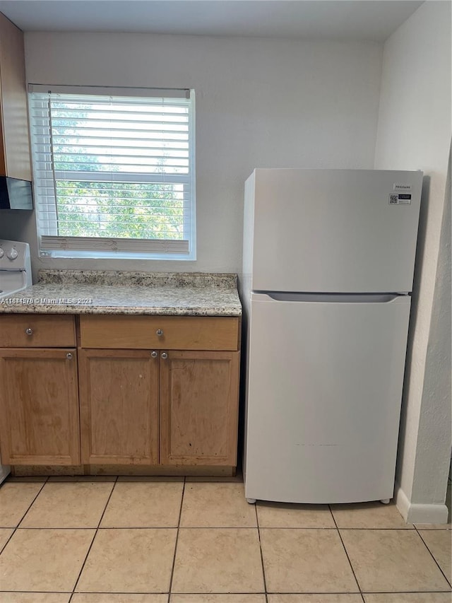
<path fill-rule="evenodd" d="M 42 256 L 195 259 L 193 91 L 32 85 L 29 106 Z"/>

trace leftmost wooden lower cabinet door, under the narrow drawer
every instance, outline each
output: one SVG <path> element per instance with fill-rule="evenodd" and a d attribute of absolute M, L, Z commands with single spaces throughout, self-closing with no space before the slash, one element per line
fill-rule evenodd
<path fill-rule="evenodd" d="M 1 460 L 80 464 L 74 349 L 0 349 Z"/>

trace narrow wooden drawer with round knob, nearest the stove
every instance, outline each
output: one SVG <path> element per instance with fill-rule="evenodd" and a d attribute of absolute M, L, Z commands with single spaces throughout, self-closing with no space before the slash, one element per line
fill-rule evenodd
<path fill-rule="evenodd" d="M 66 348 L 76 346 L 73 316 L 1 315 L 0 348 Z"/>

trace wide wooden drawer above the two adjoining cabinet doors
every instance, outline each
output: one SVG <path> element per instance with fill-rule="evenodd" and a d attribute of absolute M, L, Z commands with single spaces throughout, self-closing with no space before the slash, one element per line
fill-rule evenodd
<path fill-rule="evenodd" d="M 234 317 L 89 315 L 80 317 L 80 329 L 83 348 L 237 350 L 239 346 L 239 319 Z"/>

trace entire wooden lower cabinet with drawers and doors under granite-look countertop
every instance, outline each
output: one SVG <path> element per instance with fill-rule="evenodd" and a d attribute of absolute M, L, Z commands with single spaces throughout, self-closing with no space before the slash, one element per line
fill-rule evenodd
<path fill-rule="evenodd" d="M 88 473 L 233 472 L 239 320 L 119 317 L 123 339 L 130 331 L 123 348 L 84 346 L 100 345 L 104 318 L 0 317 L 1 461 Z M 133 348 L 138 327 L 165 349 Z"/>

